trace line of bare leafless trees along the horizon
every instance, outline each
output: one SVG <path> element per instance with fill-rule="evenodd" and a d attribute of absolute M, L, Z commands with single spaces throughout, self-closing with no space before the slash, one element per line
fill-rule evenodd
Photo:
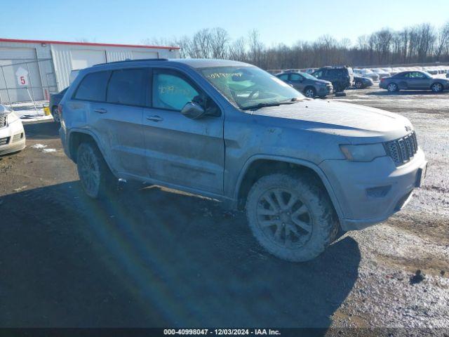
<path fill-rule="evenodd" d="M 297 41 L 293 46 L 265 46 L 257 29 L 231 39 L 220 27 L 201 29 L 192 36 L 146 39 L 142 43 L 180 46 L 182 58 L 239 60 L 271 70 L 449 62 L 449 21 L 442 27 L 423 23 L 399 31 L 382 28 L 358 37 L 354 44 L 349 39 L 338 41 L 323 35 L 315 41 Z"/>

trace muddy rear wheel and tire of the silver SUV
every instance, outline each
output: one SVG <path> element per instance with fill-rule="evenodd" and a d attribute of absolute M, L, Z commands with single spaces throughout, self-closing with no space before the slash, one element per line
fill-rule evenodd
<path fill-rule="evenodd" d="M 89 197 L 93 199 L 105 198 L 116 188 L 117 180 L 94 143 L 81 143 L 79 145 L 76 166 L 81 187 Z"/>

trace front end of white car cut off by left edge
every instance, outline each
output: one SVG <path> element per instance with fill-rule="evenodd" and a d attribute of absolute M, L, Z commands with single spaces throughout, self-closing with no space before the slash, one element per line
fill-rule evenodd
<path fill-rule="evenodd" d="M 0 155 L 25 149 L 25 130 L 22 121 L 4 105 L 0 105 Z"/>

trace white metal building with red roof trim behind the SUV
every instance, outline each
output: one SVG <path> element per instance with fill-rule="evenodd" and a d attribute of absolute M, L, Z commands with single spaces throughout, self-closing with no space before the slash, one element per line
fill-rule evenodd
<path fill-rule="evenodd" d="M 179 58 L 178 47 L 0 39 L 0 103 L 48 100 L 72 70 L 126 59 Z"/>

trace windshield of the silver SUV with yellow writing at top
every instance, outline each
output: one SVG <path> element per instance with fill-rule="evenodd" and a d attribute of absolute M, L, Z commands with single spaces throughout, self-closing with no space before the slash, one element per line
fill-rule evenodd
<path fill-rule="evenodd" d="M 241 109 L 277 105 L 304 98 L 281 79 L 257 67 L 208 67 L 203 77 Z"/>

